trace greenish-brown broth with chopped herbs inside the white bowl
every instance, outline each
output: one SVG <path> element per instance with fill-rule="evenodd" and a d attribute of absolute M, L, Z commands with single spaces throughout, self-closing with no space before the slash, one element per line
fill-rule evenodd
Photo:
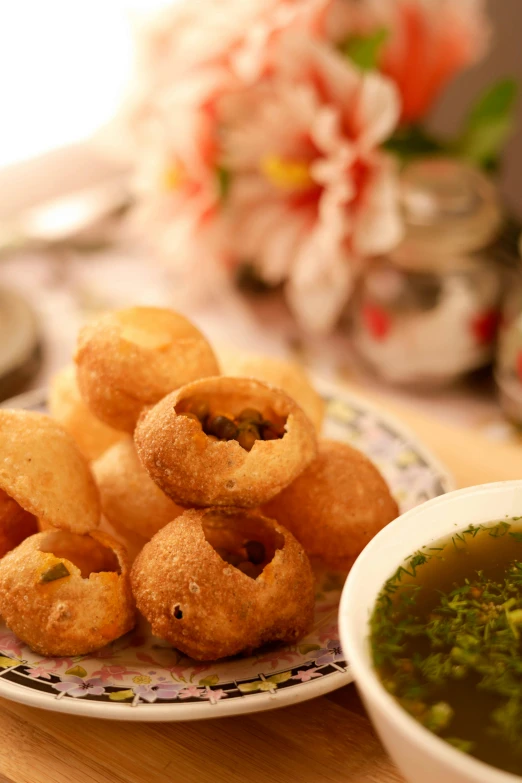
<path fill-rule="evenodd" d="M 412 555 L 371 618 L 374 665 L 414 718 L 522 775 L 522 526 L 470 525 Z"/>

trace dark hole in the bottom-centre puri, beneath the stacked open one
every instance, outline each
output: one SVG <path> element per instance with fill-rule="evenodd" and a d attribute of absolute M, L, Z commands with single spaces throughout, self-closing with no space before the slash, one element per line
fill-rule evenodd
<path fill-rule="evenodd" d="M 284 546 L 281 533 L 254 515 L 207 514 L 202 527 L 220 558 L 251 579 L 257 579 Z"/>

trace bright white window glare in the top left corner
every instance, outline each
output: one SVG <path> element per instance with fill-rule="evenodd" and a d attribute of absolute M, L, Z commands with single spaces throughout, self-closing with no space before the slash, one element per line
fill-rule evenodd
<path fill-rule="evenodd" d="M 16 0 L 0 9 L 0 166 L 87 139 L 116 112 L 132 18 L 166 0 Z"/>

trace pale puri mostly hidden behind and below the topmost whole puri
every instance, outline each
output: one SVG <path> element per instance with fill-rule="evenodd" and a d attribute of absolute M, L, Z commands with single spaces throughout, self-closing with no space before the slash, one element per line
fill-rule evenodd
<path fill-rule="evenodd" d="M 88 461 L 97 459 L 124 437 L 122 432 L 108 427 L 91 413 L 80 395 L 73 364 L 64 367 L 51 380 L 49 411 L 73 437 Z"/>

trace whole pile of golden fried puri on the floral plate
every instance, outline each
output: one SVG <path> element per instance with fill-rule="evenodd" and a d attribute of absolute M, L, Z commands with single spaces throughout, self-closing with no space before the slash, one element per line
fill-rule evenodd
<path fill-rule="evenodd" d="M 313 618 L 307 554 L 345 568 L 396 515 L 366 458 L 317 443 L 323 402 L 299 367 L 224 369 L 182 316 L 130 308 L 80 333 L 52 387 L 63 429 L 11 413 L 34 423 L 23 441 L 0 419 L 0 613 L 33 649 L 94 650 L 134 602 L 196 659 L 293 643 Z"/>

